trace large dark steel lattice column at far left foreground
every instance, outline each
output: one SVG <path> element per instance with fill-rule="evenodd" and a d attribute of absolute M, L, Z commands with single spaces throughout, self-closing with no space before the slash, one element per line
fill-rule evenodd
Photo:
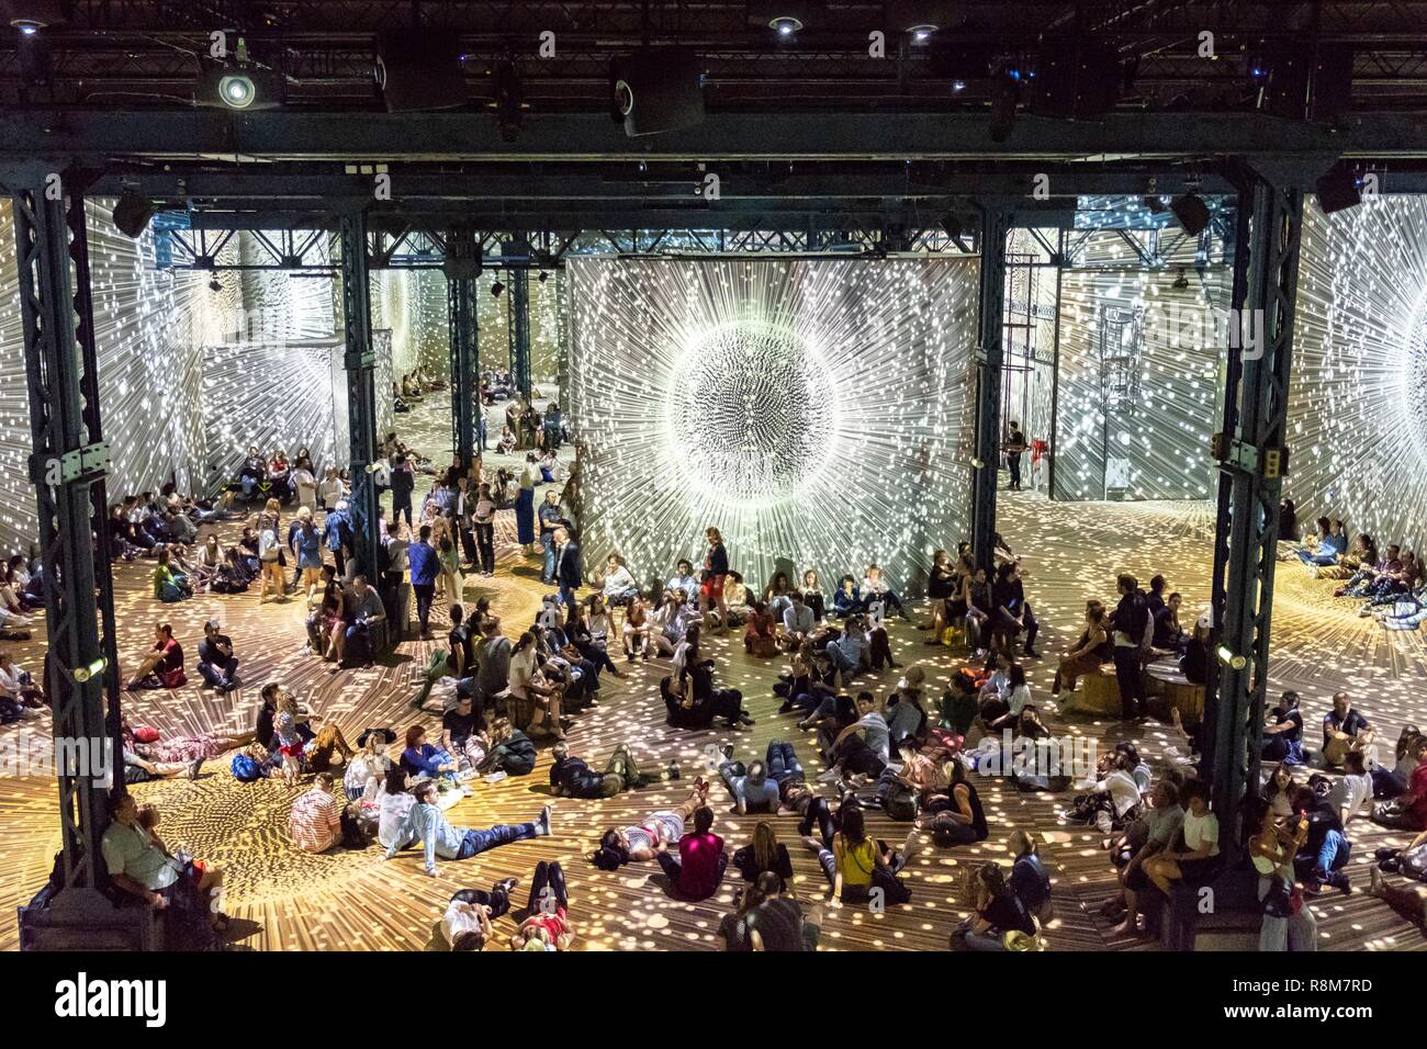
<path fill-rule="evenodd" d="M 64 848 L 54 908 L 113 913 L 97 889 L 106 881 L 106 772 L 120 754 L 120 678 L 84 198 L 47 184 L 43 171 L 11 188 Z M 121 776 L 117 784 L 123 789 Z"/>

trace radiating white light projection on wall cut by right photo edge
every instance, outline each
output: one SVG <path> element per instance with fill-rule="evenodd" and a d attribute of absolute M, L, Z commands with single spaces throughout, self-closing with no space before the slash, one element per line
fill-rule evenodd
<path fill-rule="evenodd" d="M 1427 542 L 1427 197 L 1304 204 L 1286 494 L 1300 522 Z"/>

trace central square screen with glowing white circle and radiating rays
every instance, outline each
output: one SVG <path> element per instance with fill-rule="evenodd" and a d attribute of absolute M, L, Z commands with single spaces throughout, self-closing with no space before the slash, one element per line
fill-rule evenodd
<path fill-rule="evenodd" d="M 572 260 L 569 415 L 591 565 L 718 527 L 762 587 L 896 585 L 966 532 L 976 260 Z"/>

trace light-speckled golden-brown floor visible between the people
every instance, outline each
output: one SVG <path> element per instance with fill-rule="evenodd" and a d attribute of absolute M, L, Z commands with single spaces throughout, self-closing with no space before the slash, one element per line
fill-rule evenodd
<path fill-rule="evenodd" d="M 402 420 L 408 441 L 425 448 L 438 462 L 445 460 L 448 414 L 441 394 L 427 398 Z M 491 457 L 492 460 L 495 457 Z M 497 578 L 471 581 L 467 599 L 488 597 L 505 618 L 507 632 L 518 632 L 538 607 L 542 588 L 534 558 L 525 559 L 514 545 L 509 514 L 499 528 L 501 567 Z M 1027 592 L 1045 624 L 1042 651 L 1053 655 L 1075 639 L 1077 618 L 1086 597 L 1109 597 L 1117 571 L 1129 569 L 1147 578 L 1162 571 L 1190 604 L 1207 597 L 1209 511 L 1197 504 L 1173 505 L 1055 505 L 1033 495 L 1005 497 L 1003 532 L 1023 552 L 1032 578 Z M 948 545 L 952 538 L 948 537 Z M 253 724 L 258 689 L 280 679 L 323 716 L 342 726 L 348 738 L 368 725 L 411 724 L 408 699 L 420 668 L 427 664 L 431 642 L 407 641 L 384 665 L 364 671 L 330 674 L 325 665 L 303 654 L 303 612 L 297 601 L 257 605 L 255 594 L 195 598 L 161 607 L 148 597 L 150 565 L 120 565 L 116 569 L 120 594 L 121 651 L 126 665 L 147 645 L 157 618 L 174 624 L 190 655 L 190 668 L 201 622 L 220 615 L 234 637 L 244 669 L 244 688 L 215 696 L 194 686 L 174 694 L 128 694 L 126 709 L 134 724 L 154 724 L 168 732 L 190 729 L 245 729 Z M 1421 695 L 1423 647 L 1416 635 L 1387 639 L 1371 621 L 1357 619 L 1349 602 L 1336 602 L 1324 592 L 1329 584 L 1307 579 L 1296 568 L 1281 574 L 1274 614 L 1274 688 L 1296 686 L 1306 696 L 1311 724 L 1326 709 L 1327 696 L 1354 684 L 1363 709 L 1377 721 L 1384 736 L 1396 738 L 1408 716 L 1423 719 L 1427 702 Z M 922 662 L 933 684 L 943 682 L 962 659 L 942 648 L 922 645 L 925 635 L 906 625 L 893 627 L 893 647 L 902 662 Z M 37 669 L 43 628 L 36 639 L 11 645 L 19 661 Z M 748 758 L 762 754 L 771 739 L 795 739 L 809 776 L 821 766 L 811 739 L 798 739 L 793 718 L 776 714 L 771 682 L 775 662 L 746 657 L 736 635 L 712 638 L 722 676 L 741 688 L 758 724 L 751 731 L 685 732 L 664 725 L 658 679 L 666 669 L 658 664 L 628 668 L 628 676 L 605 678 L 602 706 L 578 719 L 571 732 L 575 751 L 604 761 L 619 742 L 628 742 L 651 764 L 678 759 L 686 778 L 702 768 L 701 755 L 709 744 L 733 742 Z M 621 662 L 621 668 L 626 664 Z M 1123 729 L 1113 722 L 1062 722 L 1049 705 L 1053 659 L 1030 664 L 1032 685 L 1049 721 L 1060 732 L 1087 734 L 1109 746 Z M 197 678 L 197 674 L 191 676 Z M 883 672 L 873 688 L 889 689 L 895 672 Z M 415 719 L 434 726 L 432 715 Z M 6 734 L 49 731 L 41 719 L 24 728 L 7 726 Z M 1170 742 L 1163 728 L 1134 729 L 1152 761 L 1160 761 Z M 450 814 L 458 825 L 485 826 L 518 822 L 538 812 L 548 796 L 548 752 L 531 776 L 497 785 L 477 782 L 474 796 Z M 158 804 L 164 812 L 163 833 L 228 872 L 227 909 L 240 919 L 235 942 L 243 948 L 278 949 L 427 949 L 434 945 L 435 922 L 450 893 L 459 886 L 487 886 L 504 876 L 528 878 L 539 859 L 562 862 L 569 881 L 572 919 L 582 949 L 716 949 L 715 931 L 732 905 L 733 879 L 719 895 L 704 903 L 671 899 L 661 888 L 658 868 L 632 865 L 605 873 L 588 863 L 598 835 L 608 826 L 639 819 L 649 811 L 675 805 L 686 784 L 619 795 L 605 801 L 558 799 L 555 832 L 549 838 L 521 842 L 461 863 L 442 863 L 444 878 L 428 879 L 420 858 L 407 853 L 384 863 L 378 849 L 337 851 L 311 856 L 294 851 L 287 841 L 287 812 L 293 792 L 280 782 L 244 785 L 227 772 L 228 761 L 208 762 L 197 781 L 144 784 L 136 788 L 141 801 Z M 977 848 L 939 852 L 926 843 L 913 859 L 909 881 L 913 899 L 885 915 L 858 909 L 829 912 L 826 949 L 942 949 L 950 929 L 965 916 L 952 899 L 959 863 L 1006 861 L 1006 836 L 1015 826 L 1037 831 L 1055 866 L 1059 918 L 1047 929 L 1052 949 L 1143 948 L 1110 938 L 1107 923 L 1093 909 L 1113 891 L 1113 875 L 1099 835 L 1067 828 L 1059 819 L 1066 798 L 1022 794 L 1003 781 L 979 784 L 992 824 L 992 838 Z M 54 784 L 44 779 L 0 781 L 0 828 L 7 848 L 0 852 L 0 908 L 27 899 L 44 881 L 59 846 Z M 756 822 L 719 809 L 716 831 L 729 848 L 745 843 Z M 798 846 L 795 821 L 776 818 L 778 832 L 792 853 L 795 883 L 806 896 L 825 896 L 825 881 L 812 856 Z M 906 825 L 883 816 L 869 819 L 869 829 L 888 841 L 900 841 Z M 1386 832 L 1363 833 L 1354 828 L 1353 869 L 1366 882 L 1363 861 L 1381 841 L 1401 841 Z M 1324 949 L 1421 949 L 1423 935 L 1386 905 L 1354 895 L 1340 902 L 1324 898 L 1314 903 L 1320 916 Z M 508 926 L 508 921 L 502 922 Z M 13 949 L 11 922 L 0 923 L 0 948 Z"/>

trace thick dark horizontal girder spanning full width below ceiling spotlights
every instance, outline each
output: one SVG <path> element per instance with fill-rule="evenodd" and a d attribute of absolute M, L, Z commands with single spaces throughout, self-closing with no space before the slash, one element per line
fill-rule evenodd
<path fill-rule="evenodd" d="M 712 113 L 698 127 L 629 138 L 605 114 L 531 116 L 514 141 L 479 113 L 10 111 L 0 157 L 337 161 L 532 160 L 1119 160 L 1204 156 L 1427 157 L 1411 114 L 1336 128 L 1246 113 L 1116 113 L 1093 121 L 1020 116 L 992 141 L 980 113 Z"/>

